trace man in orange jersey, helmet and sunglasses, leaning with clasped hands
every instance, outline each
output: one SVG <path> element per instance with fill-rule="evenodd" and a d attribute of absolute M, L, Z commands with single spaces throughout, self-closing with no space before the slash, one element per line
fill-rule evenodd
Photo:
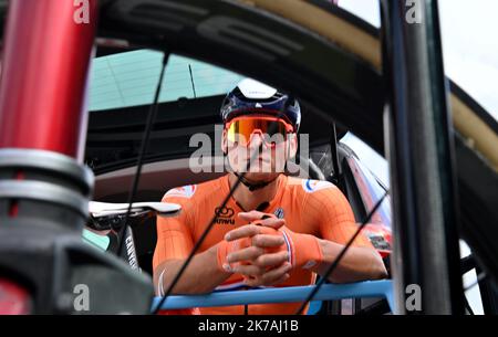
<path fill-rule="evenodd" d="M 282 175 L 298 148 L 299 103 L 247 78 L 228 93 L 221 117 L 221 147 L 231 171 L 164 196 L 163 201 L 181 204 L 181 212 L 157 219 L 153 262 L 157 293 L 168 288 L 215 214 L 216 222 L 175 294 L 313 284 L 315 274 L 326 271 L 357 225 L 347 200 L 334 185 Z M 220 208 L 247 168 L 242 183 Z M 329 278 L 344 283 L 385 275 L 381 256 L 359 235 Z M 246 309 L 249 314 L 293 314 L 299 305 L 261 304 Z M 200 313 L 243 314 L 245 307 L 200 308 Z"/>

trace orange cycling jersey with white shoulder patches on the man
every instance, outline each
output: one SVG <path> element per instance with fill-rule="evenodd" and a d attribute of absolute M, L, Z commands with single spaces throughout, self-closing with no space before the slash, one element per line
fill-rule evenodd
<path fill-rule="evenodd" d="M 229 193 L 228 176 L 169 190 L 165 202 L 181 204 L 181 211 L 174 218 L 157 218 L 157 245 L 154 253 L 154 270 L 167 260 L 185 260 L 195 242 L 203 234 L 210 220 L 218 214 L 215 225 L 203 242 L 199 253 L 224 240 L 227 232 L 247 224 L 237 217 L 243 212 L 230 199 L 219 209 Z M 293 232 L 312 234 L 317 238 L 345 244 L 354 234 L 357 224 L 344 194 L 332 183 L 311 179 L 299 179 L 281 175 L 278 178 L 277 194 L 263 210 L 286 219 L 286 225 Z M 372 248 L 369 239 L 360 234 L 354 245 Z M 294 270 L 290 277 L 278 286 L 313 284 L 315 275 L 307 270 Z M 237 289 L 243 286 L 241 275 L 231 275 L 217 289 Z M 293 314 L 300 303 L 249 305 L 249 314 Z M 201 314 L 243 314 L 240 306 L 199 308 Z"/>

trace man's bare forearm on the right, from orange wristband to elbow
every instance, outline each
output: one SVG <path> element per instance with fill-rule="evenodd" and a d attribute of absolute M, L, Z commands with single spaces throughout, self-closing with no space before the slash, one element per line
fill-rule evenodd
<path fill-rule="evenodd" d="M 335 261 L 344 245 L 319 240 L 323 253 L 323 262 L 315 267 L 314 272 L 320 275 L 325 274 L 326 270 Z M 329 276 L 329 281 L 334 283 L 356 282 L 364 280 L 377 280 L 387 276 L 384 262 L 377 252 L 369 248 L 351 246 L 341 262 Z"/>

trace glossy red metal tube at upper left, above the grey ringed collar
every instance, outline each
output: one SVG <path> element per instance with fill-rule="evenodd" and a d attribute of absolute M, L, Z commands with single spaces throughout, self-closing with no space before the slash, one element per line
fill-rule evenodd
<path fill-rule="evenodd" d="M 82 159 L 97 1 L 10 2 L 0 85 L 0 148 Z M 87 20 L 85 20 L 87 19 Z"/>

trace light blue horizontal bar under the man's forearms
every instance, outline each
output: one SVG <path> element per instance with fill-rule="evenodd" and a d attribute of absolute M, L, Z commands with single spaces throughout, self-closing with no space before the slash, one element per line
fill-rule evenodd
<path fill-rule="evenodd" d="M 207 295 L 174 295 L 168 296 L 162 309 L 302 302 L 313 288 L 314 285 L 217 292 Z M 385 297 L 391 310 L 394 309 L 393 284 L 388 280 L 349 284 L 324 284 L 313 297 L 313 301 L 360 297 Z M 154 298 L 153 308 L 157 306 L 159 301 L 160 297 Z"/>

